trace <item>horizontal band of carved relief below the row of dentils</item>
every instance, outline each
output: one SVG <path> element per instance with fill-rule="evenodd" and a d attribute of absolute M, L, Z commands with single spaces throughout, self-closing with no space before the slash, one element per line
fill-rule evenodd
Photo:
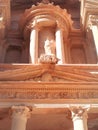
<path fill-rule="evenodd" d="M 40 92 L 39 92 L 40 91 Z M 0 89 L 0 99 L 96 99 L 98 98 L 98 91 L 94 90 L 82 90 L 80 91 L 73 89 L 62 89 L 59 88 L 57 91 L 56 88 L 27 88 L 24 91 L 22 89 Z"/>

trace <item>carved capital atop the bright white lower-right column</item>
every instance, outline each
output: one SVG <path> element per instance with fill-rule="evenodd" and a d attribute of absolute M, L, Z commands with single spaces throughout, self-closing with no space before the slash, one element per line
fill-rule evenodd
<path fill-rule="evenodd" d="M 73 121 L 77 119 L 87 119 L 87 108 L 83 107 L 70 107 L 71 113 L 72 113 L 72 119 Z"/>

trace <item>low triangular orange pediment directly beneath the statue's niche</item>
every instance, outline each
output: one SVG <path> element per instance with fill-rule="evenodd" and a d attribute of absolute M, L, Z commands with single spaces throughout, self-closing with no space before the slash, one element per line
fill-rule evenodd
<path fill-rule="evenodd" d="M 63 65 L 2 65 L 0 81 L 98 82 L 93 67 Z"/>

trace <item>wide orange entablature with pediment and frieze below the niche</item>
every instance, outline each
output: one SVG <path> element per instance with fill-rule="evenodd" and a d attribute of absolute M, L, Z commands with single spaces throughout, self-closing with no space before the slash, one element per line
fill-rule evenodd
<path fill-rule="evenodd" d="M 0 99 L 97 99 L 96 65 L 0 65 Z"/>

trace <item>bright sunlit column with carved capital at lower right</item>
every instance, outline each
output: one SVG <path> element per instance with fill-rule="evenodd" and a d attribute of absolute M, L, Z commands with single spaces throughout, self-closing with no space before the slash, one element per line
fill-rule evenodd
<path fill-rule="evenodd" d="M 87 110 L 82 107 L 72 107 L 72 120 L 74 130 L 88 130 L 87 127 Z"/>

